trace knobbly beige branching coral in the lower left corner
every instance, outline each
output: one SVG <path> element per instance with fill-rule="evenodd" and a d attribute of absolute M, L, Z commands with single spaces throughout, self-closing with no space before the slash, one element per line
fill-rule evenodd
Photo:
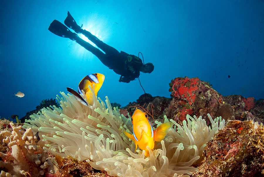
<path fill-rule="evenodd" d="M 48 160 L 48 151 L 35 154 L 38 146 L 35 144 L 37 137 L 33 135 L 31 128 L 26 132 L 21 131 L 21 126 L 13 128 L 12 133 L 1 131 L 0 133 L 0 168 L 1 177 L 25 177 L 39 176 L 44 173 L 55 173 L 56 167 Z M 42 149 L 41 149 L 42 150 Z"/>

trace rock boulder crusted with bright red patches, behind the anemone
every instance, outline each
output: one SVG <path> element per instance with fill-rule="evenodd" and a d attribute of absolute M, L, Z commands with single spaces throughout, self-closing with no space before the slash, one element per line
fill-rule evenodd
<path fill-rule="evenodd" d="M 169 85 L 172 101 L 165 114 L 176 121 L 185 120 L 187 114 L 206 117 L 209 113 L 214 117 L 219 106 L 223 105 L 223 96 L 199 78 L 178 77 Z"/>

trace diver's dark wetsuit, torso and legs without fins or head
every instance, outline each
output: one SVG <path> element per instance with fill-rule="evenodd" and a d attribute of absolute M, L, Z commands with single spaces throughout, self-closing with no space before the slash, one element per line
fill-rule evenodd
<path fill-rule="evenodd" d="M 135 55 L 129 55 L 126 52 L 119 52 L 115 48 L 105 44 L 99 40 L 96 36 L 92 35 L 89 31 L 81 30 L 82 34 L 86 36 L 90 41 L 97 45 L 105 54 L 92 46 L 88 42 L 81 39 L 76 35 L 74 40 L 83 46 L 85 49 L 92 52 L 100 61 L 116 74 L 120 74 L 119 82 L 130 82 L 138 78 L 140 74 L 140 68 L 143 66 L 142 60 Z"/>

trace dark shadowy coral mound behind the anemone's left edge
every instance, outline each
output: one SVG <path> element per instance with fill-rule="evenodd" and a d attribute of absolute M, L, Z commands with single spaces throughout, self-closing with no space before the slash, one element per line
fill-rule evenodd
<path fill-rule="evenodd" d="M 46 108 L 46 107 L 50 107 L 52 108 L 52 106 L 55 105 L 56 107 L 59 107 L 60 105 L 57 103 L 56 99 L 50 98 L 50 99 L 43 99 L 38 106 L 36 106 L 35 110 L 32 111 L 28 111 L 26 113 L 26 116 L 22 117 L 20 119 L 21 122 L 25 122 L 26 119 L 30 119 L 30 115 L 34 114 L 34 113 L 38 113 L 38 111 L 40 111 L 40 109 L 42 108 Z"/>

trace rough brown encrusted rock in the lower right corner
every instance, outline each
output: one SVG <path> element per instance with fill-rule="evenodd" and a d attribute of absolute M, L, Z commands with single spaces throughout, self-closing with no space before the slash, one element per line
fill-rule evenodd
<path fill-rule="evenodd" d="M 207 143 L 204 160 L 192 176 L 264 176 L 264 127 L 253 121 L 229 121 Z"/>

